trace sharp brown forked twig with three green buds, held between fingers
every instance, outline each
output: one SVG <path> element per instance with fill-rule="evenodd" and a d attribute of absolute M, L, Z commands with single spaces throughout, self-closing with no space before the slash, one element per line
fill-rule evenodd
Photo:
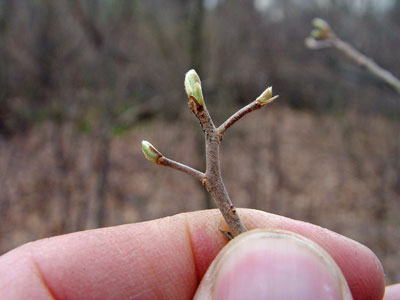
<path fill-rule="evenodd" d="M 199 119 L 204 132 L 206 143 L 206 171 L 202 173 L 184 164 L 170 160 L 163 156 L 153 145 L 142 141 L 142 151 L 146 158 L 153 163 L 168 166 L 176 170 L 192 175 L 200 180 L 206 190 L 214 199 L 221 211 L 233 237 L 247 231 L 243 225 L 228 195 L 221 176 L 219 145 L 225 131 L 236 121 L 251 111 L 264 107 L 278 96 L 272 97 L 272 88 L 266 89 L 256 100 L 237 111 L 220 127 L 215 127 L 203 99 L 200 78 L 194 70 L 190 70 L 185 76 L 185 89 L 189 98 L 189 108 Z"/>

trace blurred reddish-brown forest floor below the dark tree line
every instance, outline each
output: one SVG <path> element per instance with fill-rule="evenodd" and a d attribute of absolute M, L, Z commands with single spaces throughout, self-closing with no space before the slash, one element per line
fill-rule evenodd
<path fill-rule="evenodd" d="M 112 139 L 107 225 L 205 208 L 198 182 L 150 164 L 140 150 L 147 139 L 168 157 L 199 167 L 198 130 L 194 120 L 157 121 Z M 236 206 L 310 221 L 358 240 L 382 260 L 387 282 L 399 282 L 399 131 L 399 121 L 382 117 L 334 118 L 275 106 L 227 132 L 224 180 Z M 57 165 L 55 136 L 61 137 L 64 168 Z M 93 136 L 68 125 L 60 131 L 45 124 L 0 141 L 1 252 L 85 227 L 86 204 L 96 196 L 97 151 Z"/>

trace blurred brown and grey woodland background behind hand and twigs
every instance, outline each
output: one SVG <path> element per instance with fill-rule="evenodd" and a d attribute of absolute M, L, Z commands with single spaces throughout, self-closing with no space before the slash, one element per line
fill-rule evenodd
<path fill-rule="evenodd" d="M 400 76 L 395 0 L 0 0 L 0 254 L 53 235 L 214 207 L 149 163 L 146 139 L 204 170 L 185 72 L 215 123 L 238 207 L 309 221 L 370 247 L 400 281 L 400 96 L 334 49 L 314 17 Z"/>

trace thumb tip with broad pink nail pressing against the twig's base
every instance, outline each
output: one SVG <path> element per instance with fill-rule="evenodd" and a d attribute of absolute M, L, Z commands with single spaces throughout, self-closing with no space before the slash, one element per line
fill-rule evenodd
<path fill-rule="evenodd" d="M 313 241 L 283 230 L 255 229 L 214 259 L 194 299 L 353 299 L 333 258 Z"/>

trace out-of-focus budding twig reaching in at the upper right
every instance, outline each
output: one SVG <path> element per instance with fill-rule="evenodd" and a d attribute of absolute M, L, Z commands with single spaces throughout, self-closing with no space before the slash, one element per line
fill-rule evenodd
<path fill-rule="evenodd" d="M 365 56 L 360 51 L 355 49 L 349 43 L 341 40 L 329 26 L 329 24 L 322 19 L 314 19 L 314 30 L 311 31 L 311 36 L 306 39 L 306 46 L 313 50 L 334 47 L 347 56 L 350 60 L 365 68 L 371 74 L 380 78 L 389 84 L 398 94 L 400 94 L 400 79 L 393 75 L 388 70 L 379 66 L 371 58 Z"/>

